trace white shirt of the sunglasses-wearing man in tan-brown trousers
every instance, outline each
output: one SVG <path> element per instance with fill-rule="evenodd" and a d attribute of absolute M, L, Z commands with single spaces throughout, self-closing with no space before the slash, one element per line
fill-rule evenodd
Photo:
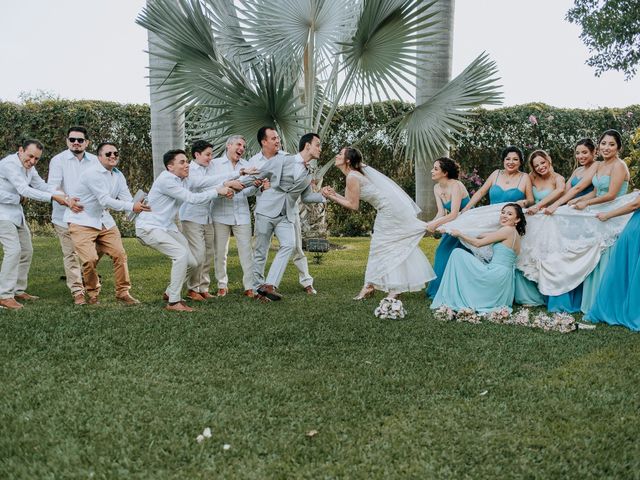
<path fill-rule="evenodd" d="M 133 211 L 133 197 L 127 181 L 120 170 L 107 170 L 98 163 L 83 170 L 80 182 L 75 186 L 74 196 L 80 199 L 84 207 L 79 213 L 67 208 L 64 222 L 75 223 L 98 230 L 116 226 L 116 222 L 107 210 Z"/>

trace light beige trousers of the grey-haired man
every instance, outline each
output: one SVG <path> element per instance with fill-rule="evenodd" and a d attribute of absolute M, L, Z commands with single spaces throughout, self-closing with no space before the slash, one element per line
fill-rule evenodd
<path fill-rule="evenodd" d="M 215 271 L 218 288 L 227 288 L 227 255 L 229 253 L 229 237 L 231 232 L 236 238 L 238 257 L 242 267 L 242 284 L 245 290 L 253 288 L 253 249 L 251 248 L 251 225 L 225 225 L 213 222 L 215 245 Z"/>

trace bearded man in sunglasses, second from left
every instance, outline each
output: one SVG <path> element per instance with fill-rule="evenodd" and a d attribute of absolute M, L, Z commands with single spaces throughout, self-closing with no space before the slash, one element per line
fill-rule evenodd
<path fill-rule="evenodd" d="M 73 195 L 81 178 L 81 170 L 89 166 L 99 165 L 95 155 L 87 152 L 89 135 L 87 129 L 76 125 L 67 130 L 67 150 L 59 153 L 49 163 L 49 177 L 47 183 L 67 195 Z M 60 240 L 64 273 L 67 277 L 67 287 L 71 290 L 73 302 L 84 305 L 85 291 L 82 284 L 82 268 L 80 260 L 73 249 L 73 242 L 69 236 L 67 222 L 64 221 L 66 207 L 53 206 L 51 222 Z"/>

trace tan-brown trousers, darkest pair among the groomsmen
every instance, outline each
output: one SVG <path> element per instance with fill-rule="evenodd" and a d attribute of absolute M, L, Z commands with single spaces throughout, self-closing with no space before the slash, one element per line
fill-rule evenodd
<path fill-rule="evenodd" d="M 95 298 L 100 294 L 100 277 L 96 267 L 102 255 L 109 255 L 113 261 L 113 276 L 116 284 L 116 297 L 126 297 L 131 289 L 127 252 L 122 245 L 122 237 L 118 227 L 102 229 L 69 224 L 69 235 L 73 241 L 80 262 L 82 277 L 87 295 Z"/>

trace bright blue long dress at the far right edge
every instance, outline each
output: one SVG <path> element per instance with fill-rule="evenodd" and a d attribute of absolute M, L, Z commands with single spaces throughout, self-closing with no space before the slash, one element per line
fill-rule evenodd
<path fill-rule="evenodd" d="M 640 210 L 611 247 L 611 259 L 593 306 L 590 322 L 622 325 L 640 331 Z"/>

